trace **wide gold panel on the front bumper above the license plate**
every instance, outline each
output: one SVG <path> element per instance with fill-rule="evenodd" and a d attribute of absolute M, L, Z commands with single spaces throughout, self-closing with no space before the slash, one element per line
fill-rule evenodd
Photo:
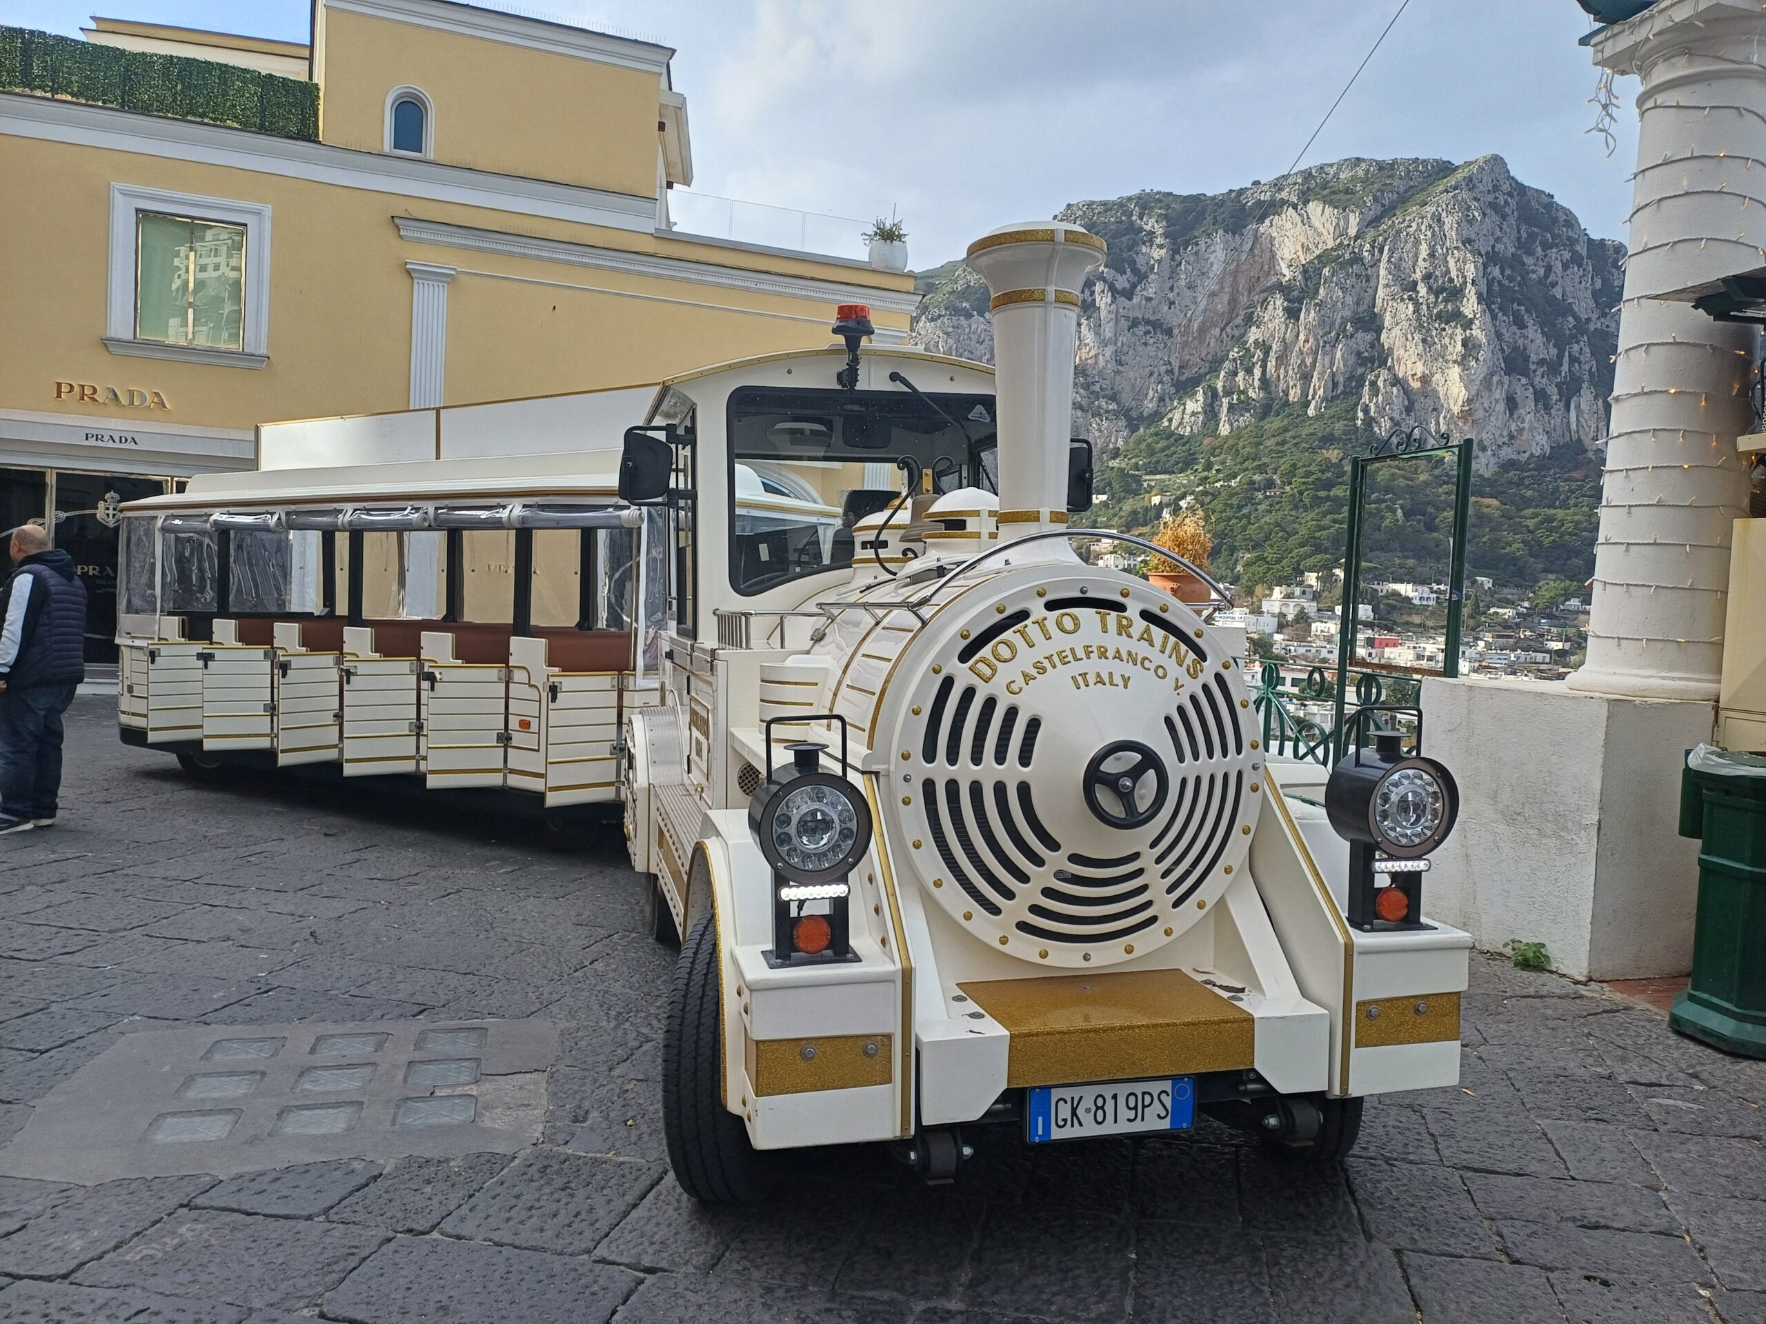
<path fill-rule="evenodd" d="M 1257 1020 L 1180 969 L 959 983 L 1012 1036 L 1010 1087 L 1233 1072 L 1256 1064 Z"/>

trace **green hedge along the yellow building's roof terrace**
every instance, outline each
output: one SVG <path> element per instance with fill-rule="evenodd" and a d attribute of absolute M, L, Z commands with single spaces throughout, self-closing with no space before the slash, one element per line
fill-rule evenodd
<path fill-rule="evenodd" d="M 0 26 L 0 92 L 231 124 L 279 138 L 320 136 L 320 88 L 214 60 L 125 51 L 53 32 Z"/>

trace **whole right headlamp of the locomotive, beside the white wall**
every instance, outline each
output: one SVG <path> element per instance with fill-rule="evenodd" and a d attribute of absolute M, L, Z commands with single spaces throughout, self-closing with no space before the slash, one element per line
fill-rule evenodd
<path fill-rule="evenodd" d="M 1356 929 L 1423 929 L 1425 858 L 1459 816 L 1459 787 L 1436 759 L 1406 756 L 1397 731 L 1374 749 L 1356 741 L 1324 786 L 1332 828 L 1349 842 L 1349 923 Z"/>

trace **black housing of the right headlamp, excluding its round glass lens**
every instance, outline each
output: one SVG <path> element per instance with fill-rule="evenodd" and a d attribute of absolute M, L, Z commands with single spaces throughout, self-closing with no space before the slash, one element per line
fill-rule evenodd
<path fill-rule="evenodd" d="M 1372 710 L 1356 713 L 1355 750 L 1337 761 L 1324 784 L 1324 812 L 1337 835 L 1349 842 L 1349 923 L 1363 932 L 1430 929 L 1422 920 L 1423 874 L 1429 853 L 1453 831 L 1459 786 L 1446 766 L 1422 756 L 1420 722 L 1416 754 L 1404 754 L 1404 736 L 1385 729 L 1374 733 L 1374 747 L 1369 749 L 1362 736 L 1367 726 L 1363 718 L 1370 713 Z M 1388 840 L 1374 817 L 1379 787 L 1406 768 L 1434 779 L 1445 800 L 1441 821 L 1416 844 Z M 1397 888 L 1404 897 L 1397 918 L 1381 914 L 1381 893 L 1388 888 Z"/>

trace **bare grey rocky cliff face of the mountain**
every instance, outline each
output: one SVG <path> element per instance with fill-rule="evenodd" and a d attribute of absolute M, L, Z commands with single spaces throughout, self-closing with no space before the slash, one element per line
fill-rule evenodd
<path fill-rule="evenodd" d="M 1501 157 L 1339 161 L 1060 214 L 1109 240 L 1083 295 L 1075 431 L 1226 436 L 1273 413 L 1475 436 L 1480 470 L 1605 434 L 1623 245 Z M 989 360 L 985 286 L 920 277 L 913 342 Z"/>

